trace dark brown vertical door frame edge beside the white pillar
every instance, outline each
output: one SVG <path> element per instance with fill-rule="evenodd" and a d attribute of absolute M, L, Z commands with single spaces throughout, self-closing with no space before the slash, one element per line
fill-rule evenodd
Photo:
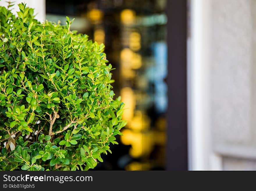
<path fill-rule="evenodd" d="M 168 0 L 168 130 L 166 170 L 188 170 L 187 1 Z"/>

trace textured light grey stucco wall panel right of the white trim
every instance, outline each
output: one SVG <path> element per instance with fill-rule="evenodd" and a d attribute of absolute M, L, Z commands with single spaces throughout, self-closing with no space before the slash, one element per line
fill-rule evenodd
<path fill-rule="evenodd" d="M 230 157 L 223 169 L 255 168 L 245 165 L 256 160 L 255 5 L 212 0 L 211 132 L 214 151 Z"/>

